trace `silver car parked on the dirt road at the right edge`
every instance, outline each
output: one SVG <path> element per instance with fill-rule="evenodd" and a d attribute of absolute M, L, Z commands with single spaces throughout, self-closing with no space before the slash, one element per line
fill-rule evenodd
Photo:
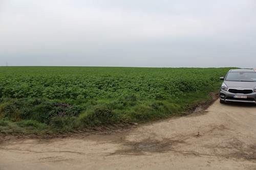
<path fill-rule="evenodd" d="M 256 69 L 231 69 L 220 90 L 220 103 L 247 102 L 256 104 Z"/>

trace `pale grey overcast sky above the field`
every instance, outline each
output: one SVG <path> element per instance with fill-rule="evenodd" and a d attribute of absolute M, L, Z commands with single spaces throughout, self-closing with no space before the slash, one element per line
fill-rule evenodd
<path fill-rule="evenodd" d="M 0 0 L 0 65 L 256 67 L 255 0 Z"/>

